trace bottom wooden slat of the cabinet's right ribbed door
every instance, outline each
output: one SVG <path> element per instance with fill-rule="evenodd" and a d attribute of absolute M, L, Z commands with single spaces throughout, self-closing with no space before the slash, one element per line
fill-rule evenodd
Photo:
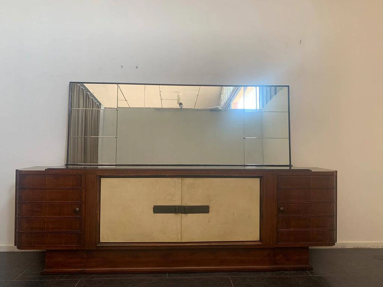
<path fill-rule="evenodd" d="M 278 243 L 334 243 L 335 230 L 279 231 Z"/>

